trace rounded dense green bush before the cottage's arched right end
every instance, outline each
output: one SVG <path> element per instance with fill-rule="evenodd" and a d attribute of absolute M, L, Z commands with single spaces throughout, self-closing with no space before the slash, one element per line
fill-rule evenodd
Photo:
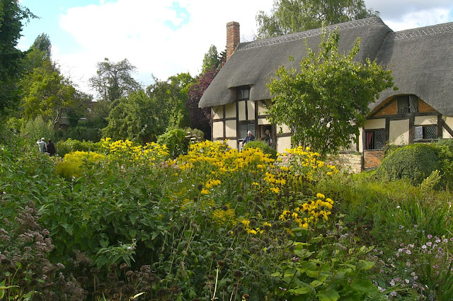
<path fill-rule="evenodd" d="M 440 169 L 435 148 L 428 144 L 409 144 L 390 152 L 376 169 L 377 178 L 396 180 L 407 178 L 419 185 L 432 171 Z"/>

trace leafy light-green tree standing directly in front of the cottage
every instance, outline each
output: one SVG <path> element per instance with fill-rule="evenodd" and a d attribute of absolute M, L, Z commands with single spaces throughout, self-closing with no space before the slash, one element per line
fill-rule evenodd
<path fill-rule="evenodd" d="M 365 123 L 369 103 L 394 82 L 391 71 L 376 62 L 353 60 L 360 39 L 348 55 L 340 55 L 338 29 L 322 31 L 319 53 L 307 47 L 300 70 L 280 67 L 268 84 L 273 95 L 268 113 L 271 123 L 291 128 L 293 144 L 326 154 L 348 147 Z"/>

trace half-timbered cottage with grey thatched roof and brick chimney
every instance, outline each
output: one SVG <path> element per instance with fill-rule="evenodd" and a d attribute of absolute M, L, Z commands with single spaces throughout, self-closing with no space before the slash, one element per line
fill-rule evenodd
<path fill-rule="evenodd" d="M 356 59 L 377 60 L 391 69 L 398 91 L 387 89 L 370 105 L 359 143 L 352 148 L 365 154 L 365 166 L 390 144 L 429 142 L 453 137 L 453 23 L 394 32 L 379 17 L 338 26 L 339 51 L 349 52 L 360 37 Z M 240 146 L 251 130 L 259 139 L 270 130 L 278 152 L 290 147 L 291 132 L 266 119 L 271 105 L 266 84 L 278 67 L 299 67 L 306 55 L 305 41 L 317 50 L 321 29 L 276 38 L 239 41 L 239 23 L 226 25 L 227 61 L 200 100 L 210 107 L 212 140 L 229 140 Z M 294 61 L 289 61 L 289 56 Z"/>

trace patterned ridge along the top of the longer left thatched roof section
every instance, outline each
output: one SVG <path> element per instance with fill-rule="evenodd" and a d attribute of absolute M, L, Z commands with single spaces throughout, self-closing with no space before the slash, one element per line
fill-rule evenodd
<path fill-rule="evenodd" d="M 375 16 L 375 17 L 370 17 L 370 18 L 365 18 L 365 19 L 360 19 L 360 20 L 348 21 L 345 23 L 328 25 L 328 26 L 326 26 L 326 29 L 333 30 L 337 27 L 338 27 L 338 29 L 345 29 L 345 28 L 355 28 L 355 27 L 363 26 L 363 25 L 379 25 L 379 24 L 385 25 L 385 23 L 382 21 L 381 18 Z M 281 42 L 302 40 L 304 38 L 321 35 L 321 29 L 322 28 L 309 29 L 309 30 L 301 31 L 299 33 L 289 33 L 287 35 L 280 35 L 278 37 L 267 38 L 264 40 L 255 40 L 252 42 L 241 43 L 241 44 L 239 44 L 239 47 L 236 51 L 263 47 L 263 46 L 268 46 L 268 45 L 274 45 L 274 44 L 279 44 Z"/>

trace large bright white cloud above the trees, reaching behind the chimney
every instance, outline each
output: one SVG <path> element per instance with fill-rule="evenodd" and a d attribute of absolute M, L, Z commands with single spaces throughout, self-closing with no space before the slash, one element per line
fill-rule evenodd
<path fill-rule="evenodd" d="M 129 59 L 137 67 L 137 78 L 151 84 L 180 72 L 200 72 L 210 45 L 222 51 L 226 45 L 226 23 L 241 24 L 241 36 L 252 40 L 258 10 L 269 10 L 273 0 L 147 1 L 117 0 L 99 5 L 69 8 L 60 27 L 81 46 L 80 52 L 55 53 L 63 69 L 86 87 L 96 74 L 96 62 Z M 147 76 L 147 78 L 144 78 Z"/>

